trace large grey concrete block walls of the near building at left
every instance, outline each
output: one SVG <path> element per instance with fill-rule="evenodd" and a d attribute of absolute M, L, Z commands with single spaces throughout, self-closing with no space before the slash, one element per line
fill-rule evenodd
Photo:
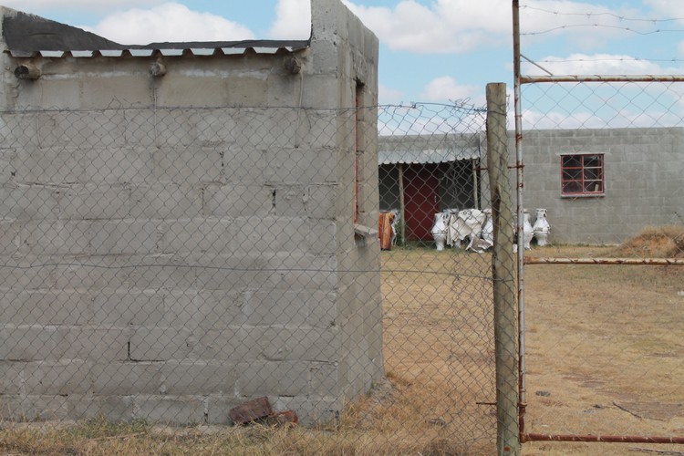
<path fill-rule="evenodd" d="M 19 81 L 2 57 L 5 419 L 223 423 L 266 395 L 313 423 L 383 375 L 378 241 L 352 210 L 358 153 L 377 226 L 354 96 L 377 102 L 378 40 L 312 4 L 300 75 L 281 53 L 168 57 L 163 78 L 63 57 Z"/>

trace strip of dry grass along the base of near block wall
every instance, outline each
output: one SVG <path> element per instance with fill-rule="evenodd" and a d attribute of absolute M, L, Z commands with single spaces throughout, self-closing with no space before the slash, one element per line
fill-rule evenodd
<path fill-rule="evenodd" d="M 110 433 L 107 430 L 118 429 Z M 85 430 L 79 431 L 79 430 Z M 241 428 L 198 427 L 171 429 L 159 426 L 130 430 L 101 420 L 67 423 L 58 427 L 42 424 L 16 425 L 0 433 L 0 451 L 12 455 L 216 455 L 216 454 L 328 454 L 374 455 L 459 454 L 452 440 L 435 438 L 428 446 L 417 443 L 410 432 L 397 446 L 376 430 L 306 430 L 252 425 Z"/>

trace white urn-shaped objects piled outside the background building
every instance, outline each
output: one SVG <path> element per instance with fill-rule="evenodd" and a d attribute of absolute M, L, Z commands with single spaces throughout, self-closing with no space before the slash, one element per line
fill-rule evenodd
<path fill-rule="evenodd" d="M 536 238 L 537 245 L 548 244 L 551 225 L 546 219 L 546 210 L 536 210 L 534 224 L 530 221 L 530 212 L 523 211 L 523 248 L 531 249 L 530 243 Z M 483 252 L 493 245 L 493 225 L 491 209 L 446 209 L 435 214 L 431 229 L 437 250 L 444 250 L 446 245 L 461 248 L 461 241 L 469 239 L 467 249 Z M 517 244 L 514 246 L 517 250 Z"/>

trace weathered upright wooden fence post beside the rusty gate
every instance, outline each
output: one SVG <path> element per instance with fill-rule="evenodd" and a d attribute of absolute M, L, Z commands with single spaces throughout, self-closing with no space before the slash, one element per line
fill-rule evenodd
<path fill-rule="evenodd" d="M 494 229 L 492 277 L 496 354 L 496 443 L 500 455 L 520 454 L 518 328 L 507 142 L 506 85 L 487 84 L 487 169 L 490 176 Z"/>

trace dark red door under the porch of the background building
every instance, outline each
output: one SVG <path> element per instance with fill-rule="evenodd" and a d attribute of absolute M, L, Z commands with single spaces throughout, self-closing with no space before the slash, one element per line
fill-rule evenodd
<path fill-rule="evenodd" d="M 435 213 L 440 212 L 437 164 L 408 165 L 404 170 L 406 239 L 431 241 Z"/>

